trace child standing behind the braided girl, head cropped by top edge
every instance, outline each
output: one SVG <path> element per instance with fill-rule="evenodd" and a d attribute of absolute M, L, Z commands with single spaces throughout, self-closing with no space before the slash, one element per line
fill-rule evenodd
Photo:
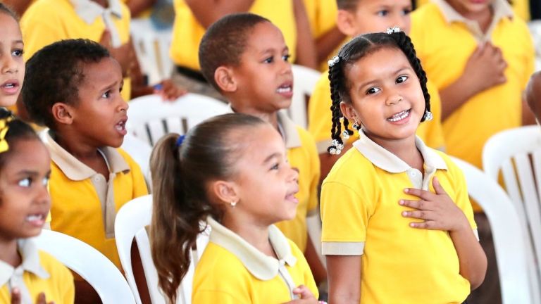
<path fill-rule="evenodd" d="M 410 0 L 337 0 L 337 26 L 349 37 L 369 32 L 383 32 L 388 27 L 398 26 L 404 32 L 409 32 L 411 1 Z M 440 150 L 444 149 L 444 139 L 440 122 L 440 97 L 437 89 L 428 84 L 431 96 L 433 120 L 421 124 L 417 135 L 425 143 Z M 310 98 L 309 132 L 316 139 L 319 158 L 321 161 L 321 179 L 327 176 L 330 168 L 340 155 L 330 155 L 327 147 L 330 145 L 329 130 L 331 113 L 328 73 L 321 76 Z M 346 150 L 357 139 L 356 135 L 347 141 Z"/>

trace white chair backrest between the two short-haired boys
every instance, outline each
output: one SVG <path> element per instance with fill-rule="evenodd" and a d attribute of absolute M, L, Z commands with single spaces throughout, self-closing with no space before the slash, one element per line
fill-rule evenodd
<path fill-rule="evenodd" d="M 158 95 L 130 101 L 128 132 L 151 146 L 170 132 L 185 134 L 199 122 L 230 112 L 228 105 L 198 94 L 186 94 L 176 101 L 162 101 Z"/>

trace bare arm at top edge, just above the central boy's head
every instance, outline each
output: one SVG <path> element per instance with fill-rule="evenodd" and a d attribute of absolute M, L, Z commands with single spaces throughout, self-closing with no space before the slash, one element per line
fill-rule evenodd
<path fill-rule="evenodd" d="M 186 4 L 197 21 L 207 28 L 224 15 L 249 11 L 254 0 L 186 0 Z"/>

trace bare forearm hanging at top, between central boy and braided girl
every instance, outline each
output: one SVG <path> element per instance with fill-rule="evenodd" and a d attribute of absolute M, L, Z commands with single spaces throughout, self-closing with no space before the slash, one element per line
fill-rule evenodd
<path fill-rule="evenodd" d="M 295 23 L 297 25 L 297 61 L 299 65 L 318 68 L 316 44 L 313 42 L 310 24 L 302 0 L 293 0 Z"/>

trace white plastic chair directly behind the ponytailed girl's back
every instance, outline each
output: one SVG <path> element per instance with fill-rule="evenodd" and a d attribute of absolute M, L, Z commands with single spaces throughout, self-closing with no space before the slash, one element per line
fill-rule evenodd
<path fill-rule="evenodd" d="M 151 256 L 149 235 L 147 234 L 147 229 L 145 229 L 145 226 L 150 224 L 151 217 L 152 196 L 147 195 L 125 203 L 125 205 L 118 210 L 115 220 L 116 247 L 118 255 L 120 256 L 120 263 L 122 264 L 126 279 L 128 279 L 128 284 L 132 289 L 137 304 L 141 303 L 141 298 L 139 296 L 137 285 L 135 284 L 130 255 L 134 238 L 137 242 L 137 248 L 139 249 L 139 256 L 141 257 L 151 301 L 153 304 L 166 303 L 163 294 L 160 289 L 158 289 L 158 273 L 156 272 L 156 267 L 154 266 Z M 200 234 L 197 239 L 198 249 L 192 256 L 194 262 L 189 265 L 188 272 L 178 289 L 178 304 L 192 303 L 192 280 L 194 277 L 195 264 L 197 264 L 197 261 L 201 257 L 208 242 L 209 232 L 207 231 Z"/>

